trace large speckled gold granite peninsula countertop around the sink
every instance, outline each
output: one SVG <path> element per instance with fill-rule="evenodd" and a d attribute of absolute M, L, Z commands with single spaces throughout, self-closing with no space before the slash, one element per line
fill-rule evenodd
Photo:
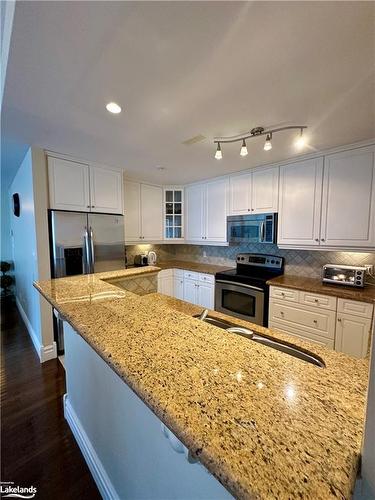
<path fill-rule="evenodd" d="M 105 281 L 158 270 L 35 287 L 236 498 L 349 499 L 368 360 L 231 318 L 313 351 L 322 369 L 199 322 L 200 307 Z"/>

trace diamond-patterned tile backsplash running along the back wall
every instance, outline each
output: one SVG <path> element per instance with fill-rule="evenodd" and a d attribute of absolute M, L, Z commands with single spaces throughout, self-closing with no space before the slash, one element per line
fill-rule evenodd
<path fill-rule="evenodd" d="M 319 278 L 324 264 L 346 264 L 375 266 L 375 253 L 327 252 L 320 250 L 280 250 L 276 245 L 132 245 L 126 247 L 128 263 L 132 264 L 137 253 L 153 250 L 158 259 L 187 260 L 235 267 L 236 255 L 240 252 L 267 253 L 285 259 L 285 273 Z"/>

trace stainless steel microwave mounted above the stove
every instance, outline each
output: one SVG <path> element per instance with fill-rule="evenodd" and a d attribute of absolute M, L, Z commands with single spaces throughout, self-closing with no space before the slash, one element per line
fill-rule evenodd
<path fill-rule="evenodd" d="M 227 218 L 229 243 L 276 243 L 277 214 L 231 215 Z"/>

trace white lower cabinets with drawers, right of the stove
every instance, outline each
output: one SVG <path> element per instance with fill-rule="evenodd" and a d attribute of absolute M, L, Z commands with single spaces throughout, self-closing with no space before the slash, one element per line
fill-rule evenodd
<path fill-rule="evenodd" d="M 270 328 L 350 356 L 366 356 L 372 304 L 273 286 L 270 297 Z"/>

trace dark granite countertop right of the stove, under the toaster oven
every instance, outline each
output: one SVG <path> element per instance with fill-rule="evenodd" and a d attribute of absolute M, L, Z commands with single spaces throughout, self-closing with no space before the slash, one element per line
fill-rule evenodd
<path fill-rule="evenodd" d="M 267 281 L 268 285 L 294 288 L 307 292 L 332 295 L 342 299 L 359 300 L 361 302 L 375 303 L 375 286 L 367 285 L 365 288 L 351 288 L 342 285 L 330 285 L 322 283 L 318 278 L 305 278 L 303 276 L 289 276 L 283 274 L 277 278 Z"/>

